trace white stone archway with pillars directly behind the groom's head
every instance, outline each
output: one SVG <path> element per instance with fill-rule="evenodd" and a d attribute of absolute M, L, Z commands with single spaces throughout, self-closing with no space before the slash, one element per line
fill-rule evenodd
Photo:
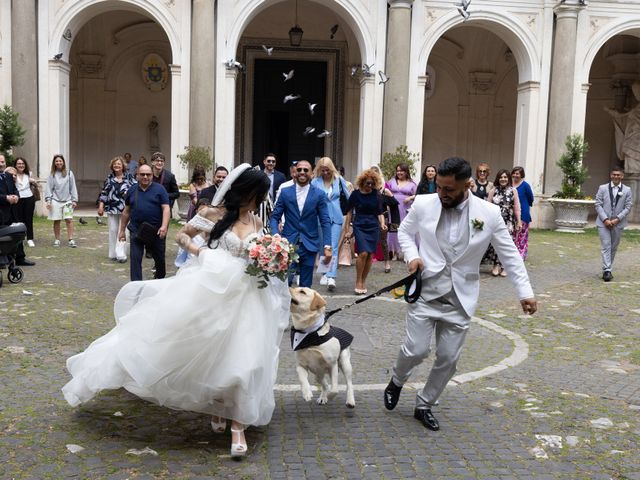
<path fill-rule="evenodd" d="M 417 13 L 421 13 L 418 11 Z M 435 17 L 431 24 L 425 27 L 424 32 L 420 35 L 420 43 L 416 45 L 418 50 L 418 61 L 411 67 L 411 78 L 416 79 L 413 85 L 410 85 L 410 123 L 407 125 L 407 142 L 413 151 L 422 152 L 423 148 L 423 132 L 425 108 L 428 108 L 428 102 L 425 102 L 426 89 L 425 85 L 430 81 L 425 75 L 427 65 L 432 62 L 440 65 L 442 68 L 447 60 L 442 54 L 438 54 L 436 45 L 438 42 L 447 41 L 447 38 L 455 36 L 457 31 L 471 29 L 480 32 L 481 30 L 489 33 L 484 35 L 487 38 L 493 38 L 495 48 L 492 50 L 492 62 L 502 62 L 503 65 L 494 72 L 485 72 L 485 68 L 475 68 L 473 71 L 467 70 L 467 78 L 458 79 L 457 95 L 466 95 L 473 91 L 494 91 L 499 93 L 503 98 L 491 103 L 490 108 L 495 112 L 492 118 L 498 124 L 510 123 L 512 129 L 512 139 L 508 143 L 513 145 L 512 155 L 509 161 L 509 155 L 504 151 L 495 155 L 498 164 L 509 162 L 509 165 L 521 165 L 527 172 L 527 179 L 530 180 L 533 188 L 540 191 L 542 188 L 542 174 L 544 171 L 544 146 L 545 146 L 545 124 L 546 117 L 540 112 L 544 112 L 546 106 L 545 93 L 540 89 L 540 81 L 542 78 L 541 57 L 542 43 L 536 38 L 534 30 L 530 28 L 536 22 L 542 22 L 541 16 L 533 16 L 529 20 L 529 26 L 525 25 L 517 15 L 509 15 L 503 10 L 492 7 L 477 6 L 473 11 L 472 17 L 462 26 L 462 18 L 455 11 L 450 9 L 447 13 L 439 17 Z M 499 40 L 499 42 L 496 42 Z M 487 40 L 489 41 L 489 40 Z M 498 47 L 498 45 L 501 45 Z M 451 47 L 459 49 L 460 47 Z M 482 52 L 486 53 L 486 52 Z M 497 65 L 497 63 L 496 63 Z M 507 65 L 507 68 L 504 66 Z M 432 67 L 430 67 L 432 68 Z M 449 69 L 450 70 L 450 69 Z M 444 69 L 446 75 L 447 69 Z M 436 75 L 435 88 L 439 82 Z M 452 78 L 453 80 L 453 78 Z M 461 87 L 462 85 L 471 85 L 471 87 Z M 506 95 L 506 96 L 505 96 Z M 505 103 L 506 102 L 506 103 Z M 517 105 L 517 106 L 516 106 Z M 487 106 L 489 108 L 489 105 Z M 463 109 L 464 110 L 464 109 Z M 509 110 L 510 117 L 504 117 L 498 111 L 506 112 Z M 466 114 L 458 115 L 456 123 L 460 123 Z M 496 118 L 503 117 L 503 120 Z M 416 121 L 415 119 L 420 119 Z M 494 125 L 494 135 L 500 132 L 502 128 Z M 461 138 L 463 144 L 469 144 L 469 140 Z M 486 141 L 486 140 L 485 140 Z M 501 140 L 500 140 L 501 141 Z M 490 143 L 496 142 L 496 138 L 490 138 Z M 473 144 L 473 142 L 471 142 Z M 458 139 L 456 146 L 451 153 L 461 153 L 458 150 Z M 495 150 L 495 145 L 492 146 Z M 500 149 L 500 147 L 497 147 Z M 503 149 L 504 150 L 504 149 Z M 466 150 L 469 152 L 469 149 Z M 422 152 L 423 157 L 428 156 L 428 152 Z M 474 156 L 471 152 L 472 157 Z M 478 159 L 477 161 L 480 161 Z"/>

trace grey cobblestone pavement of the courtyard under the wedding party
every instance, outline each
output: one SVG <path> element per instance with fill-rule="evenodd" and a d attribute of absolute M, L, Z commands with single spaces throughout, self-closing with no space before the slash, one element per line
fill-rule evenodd
<path fill-rule="evenodd" d="M 356 336 L 353 410 L 344 393 L 318 406 L 289 390 L 297 382 L 283 340 L 273 420 L 248 430 L 249 455 L 234 462 L 229 434 L 215 436 L 204 415 L 124 390 L 80 408 L 66 404 L 65 359 L 111 328 L 128 265 L 106 258 L 106 226 L 78 225 L 77 249 L 51 247 L 50 228 L 38 220 L 37 246 L 28 249 L 37 266 L 0 289 L 2 479 L 640 479 L 640 232 L 625 233 L 615 279 L 603 283 L 594 231 L 533 231 L 527 263 L 540 301 L 533 317 L 521 315 L 508 279 L 485 272 L 477 316 L 511 334 L 474 323 L 457 378 L 509 357 L 517 338 L 528 356 L 450 384 L 434 410 L 439 432 L 413 419 L 410 388 L 393 412 L 382 405 L 380 385 L 403 336 L 402 301 L 375 299 L 332 318 Z M 370 291 L 405 274 L 398 262 L 390 274 L 381 267 L 374 265 Z M 353 270 L 340 270 L 331 307 L 353 300 Z M 428 367 L 411 380 L 424 381 Z M 127 454 L 145 447 L 157 455 Z"/>

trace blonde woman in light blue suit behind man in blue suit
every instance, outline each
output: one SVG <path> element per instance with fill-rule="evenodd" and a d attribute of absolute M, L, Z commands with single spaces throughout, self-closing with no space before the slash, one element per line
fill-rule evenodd
<path fill-rule="evenodd" d="M 342 232 L 342 225 L 344 223 L 344 215 L 340 209 L 340 192 L 343 192 L 348 199 L 349 187 L 347 187 L 347 183 L 340 176 L 340 173 L 329 157 L 322 157 L 318 160 L 313 174 L 314 178 L 311 180 L 311 185 L 318 187 L 327 195 L 329 217 L 331 218 L 331 238 L 322 239 L 321 245 L 331 245 L 332 251 L 337 252 L 338 245 L 340 245 L 340 233 Z M 338 262 L 336 258 L 336 260 L 331 262 L 329 271 L 320 279 L 320 285 L 326 285 L 327 289 L 333 292 L 336 288 L 337 272 Z"/>

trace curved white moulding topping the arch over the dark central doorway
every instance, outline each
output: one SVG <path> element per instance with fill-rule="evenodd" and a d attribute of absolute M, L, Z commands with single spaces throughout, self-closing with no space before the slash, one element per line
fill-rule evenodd
<path fill-rule="evenodd" d="M 222 61 L 235 58 L 240 39 L 247 26 L 263 11 L 277 5 L 278 3 L 290 2 L 291 0 L 245 0 L 238 1 L 232 9 L 231 18 L 233 23 L 226 29 L 224 38 L 225 51 Z M 362 56 L 362 63 L 376 62 L 376 36 L 375 22 L 373 22 L 374 12 L 367 7 L 366 2 L 360 0 L 307 0 L 322 5 L 337 13 L 340 18 L 352 30 L 358 48 Z M 413 1 L 413 0 L 411 0 Z M 238 6 L 239 4 L 239 6 Z"/>

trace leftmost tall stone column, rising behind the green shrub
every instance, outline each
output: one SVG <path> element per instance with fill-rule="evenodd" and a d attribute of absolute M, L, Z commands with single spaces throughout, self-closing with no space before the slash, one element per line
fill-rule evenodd
<path fill-rule="evenodd" d="M 27 159 L 38 171 L 38 46 L 35 0 L 11 2 L 11 85 L 12 104 L 20 114 L 20 123 L 27 131 L 25 143 L 15 148 L 15 154 Z M 44 160 L 46 162 L 46 159 Z"/>

